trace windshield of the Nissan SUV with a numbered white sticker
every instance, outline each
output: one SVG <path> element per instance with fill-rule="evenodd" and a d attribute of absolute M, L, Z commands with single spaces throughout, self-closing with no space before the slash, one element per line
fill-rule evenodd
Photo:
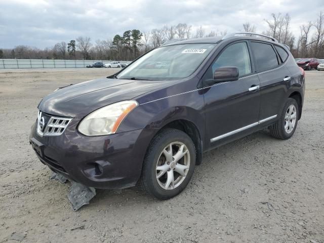
<path fill-rule="evenodd" d="M 121 79 L 173 80 L 191 75 L 216 44 L 183 44 L 156 48 L 116 77 Z"/>

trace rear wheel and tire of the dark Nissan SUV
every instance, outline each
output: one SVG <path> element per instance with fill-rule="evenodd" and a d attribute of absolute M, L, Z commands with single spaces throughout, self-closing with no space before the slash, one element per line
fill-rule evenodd
<path fill-rule="evenodd" d="M 295 133 L 299 117 L 298 104 L 295 99 L 288 98 L 279 119 L 270 127 L 272 137 L 289 139 Z"/>

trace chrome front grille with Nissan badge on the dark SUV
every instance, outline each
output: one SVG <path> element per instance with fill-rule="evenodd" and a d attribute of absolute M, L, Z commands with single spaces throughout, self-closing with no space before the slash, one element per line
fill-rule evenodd
<path fill-rule="evenodd" d="M 37 133 L 41 136 L 59 136 L 66 129 L 72 118 L 51 116 L 38 112 Z"/>

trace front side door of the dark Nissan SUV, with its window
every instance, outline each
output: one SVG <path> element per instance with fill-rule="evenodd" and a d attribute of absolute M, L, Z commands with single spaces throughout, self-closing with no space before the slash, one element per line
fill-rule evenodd
<path fill-rule="evenodd" d="M 215 70 L 223 66 L 237 67 L 239 79 L 206 87 L 206 80 L 213 78 Z M 252 71 L 248 43 L 244 41 L 227 46 L 205 73 L 206 145 L 210 148 L 245 136 L 257 128 L 260 82 Z"/>

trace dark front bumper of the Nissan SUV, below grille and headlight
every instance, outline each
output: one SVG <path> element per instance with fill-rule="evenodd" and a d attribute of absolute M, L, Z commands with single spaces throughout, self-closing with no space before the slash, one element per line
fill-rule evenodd
<path fill-rule="evenodd" d="M 89 187 L 134 186 L 155 129 L 87 137 L 76 131 L 78 121 L 72 119 L 62 135 L 52 137 L 39 136 L 34 124 L 29 141 L 39 160 L 52 171 Z"/>

